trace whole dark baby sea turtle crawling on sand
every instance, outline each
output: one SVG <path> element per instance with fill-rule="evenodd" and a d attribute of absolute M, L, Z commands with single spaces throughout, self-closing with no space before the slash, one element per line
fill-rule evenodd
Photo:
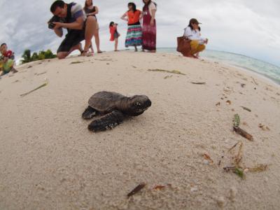
<path fill-rule="evenodd" d="M 95 118 L 88 129 L 93 132 L 100 132 L 113 129 L 127 116 L 139 116 L 146 111 L 152 102 L 146 95 L 135 95 L 125 97 L 116 92 L 97 92 L 88 101 L 89 106 L 83 113 L 83 119 Z"/>

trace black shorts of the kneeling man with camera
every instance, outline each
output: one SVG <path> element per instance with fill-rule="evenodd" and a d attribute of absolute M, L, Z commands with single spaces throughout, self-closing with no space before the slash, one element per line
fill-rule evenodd
<path fill-rule="evenodd" d="M 86 22 L 86 21 L 85 21 Z M 82 30 L 69 30 L 68 34 L 66 34 L 64 40 L 60 44 L 58 52 L 69 52 L 73 46 L 78 45 L 81 41 L 85 40 L 85 23 Z"/>

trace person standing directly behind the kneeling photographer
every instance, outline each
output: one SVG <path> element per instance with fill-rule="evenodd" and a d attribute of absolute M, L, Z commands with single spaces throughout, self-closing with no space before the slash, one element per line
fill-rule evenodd
<path fill-rule="evenodd" d="M 85 14 L 87 15 L 87 17 L 92 16 L 92 17 L 94 17 L 94 19 L 97 22 L 96 15 L 99 13 L 99 9 L 98 9 L 97 6 L 93 6 L 92 0 L 86 0 L 85 1 L 85 7 L 83 9 L 85 10 Z M 100 38 L 99 38 L 98 22 L 96 24 L 96 27 L 97 27 L 97 29 L 96 29 L 96 33 L 94 34 L 94 38 L 95 38 L 95 44 L 97 45 L 97 53 L 102 53 L 102 50 L 100 50 Z M 93 53 L 94 51 L 93 51 L 92 45 L 91 45 L 91 50 L 92 50 L 92 53 Z"/>

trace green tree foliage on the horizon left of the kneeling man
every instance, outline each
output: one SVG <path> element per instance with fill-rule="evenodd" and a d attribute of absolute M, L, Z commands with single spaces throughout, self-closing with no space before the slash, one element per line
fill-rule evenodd
<path fill-rule="evenodd" d="M 34 52 L 33 55 L 31 56 L 31 51 L 30 50 L 25 50 L 25 52 L 22 55 L 22 64 L 26 64 L 28 62 L 34 62 L 36 60 L 42 60 L 42 59 L 52 59 L 57 57 L 57 55 L 54 55 L 52 53 L 52 50 L 42 50 L 40 52 Z"/>

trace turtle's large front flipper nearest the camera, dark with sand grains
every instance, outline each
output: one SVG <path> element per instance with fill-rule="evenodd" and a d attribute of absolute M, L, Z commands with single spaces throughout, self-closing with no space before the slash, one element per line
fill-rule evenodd
<path fill-rule="evenodd" d="M 120 123 L 123 123 L 124 115 L 120 111 L 112 111 L 106 114 L 98 120 L 93 120 L 90 125 L 88 125 L 88 130 L 93 132 L 101 132 L 106 130 L 111 130 Z"/>

